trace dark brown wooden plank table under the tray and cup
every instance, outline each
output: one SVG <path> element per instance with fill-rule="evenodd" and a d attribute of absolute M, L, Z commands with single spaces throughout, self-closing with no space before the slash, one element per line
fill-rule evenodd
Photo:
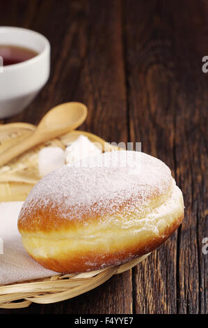
<path fill-rule="evenodd" d="M 51 42 L 49 82 L 5 123 L 86 103 L 81 129 L 142 142 L 171 167 L 186 206 L 182 227 L 138 267 L 69 301 L 0 313 L 208 313 L 208 2 L 8 0 L 0 22 Z"/>

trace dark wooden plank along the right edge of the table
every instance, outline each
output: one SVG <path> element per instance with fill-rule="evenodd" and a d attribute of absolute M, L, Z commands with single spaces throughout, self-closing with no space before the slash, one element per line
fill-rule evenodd
<path fill-rule="evenodd" d="M 189 6 L 189 11 L 185 10 Z M 186 220 L 179 239 L 179 313 L 207 313 L 208 256 L 202 253 L 207 227 L 207 87 L 202 57 L 208 53 L 206 1 L 184 1 L 174 10 L 177 49 L 176 161 L 183 186 Z M 184 40 L 186 42 L 184 43 Z M 182 281 L 184 281 L 182 283 Z"/>

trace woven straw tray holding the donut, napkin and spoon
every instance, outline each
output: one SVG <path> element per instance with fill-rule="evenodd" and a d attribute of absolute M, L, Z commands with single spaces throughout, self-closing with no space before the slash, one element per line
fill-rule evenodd
<path fill-rule="evenodd" d="M 25 123 L 0 125 L 0 156 L 2 152 L 35 130 L 35 126 Z M 79 135 L 86 135 L 90 141 L 102 144 L 102 149 L 111 151 L 118 149 L 84 131 L 72 131 L 62 137 L 50 140 L 46 144 L 34 147 L 22 156 L 15 158 L 8 165 L 0 167 L 0 202 L 25 200 L 33 186 L 40 179 L 38 175 L 38 152 L 42 147 L 58 146 L 63 149 Z M 25 281 L 0 286 L 0 308 L 24 308 L 32 302 L 49 304 L 71 299 L 92 290 L 107 281 L 114 274 L 121 274 L 144 260 L 149 254 L 143 255 L 115 267 L 85 272 L 82 274 L 60 274 L 49 278 Z"/>

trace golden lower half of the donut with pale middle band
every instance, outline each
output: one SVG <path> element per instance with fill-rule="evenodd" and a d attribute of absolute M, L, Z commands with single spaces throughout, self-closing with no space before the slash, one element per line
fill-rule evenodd
<path fill-rule="evenodd" d="M 110 224 L 102 230 L 100 226 L 98 231 L 97 225 L 90 224 L 81 234 L 69 227 L 41 234 L 19 230 L 28 253 L 47 269 L 64 273 L 100 269 L 150 253 L 163 244 L 182 223 L 182 193 L 175 186 L 166 202 L 152 209 L 145 218 L 125 215 L 129 226 L 125 227 L 122 221 L 114 228 Z"/>

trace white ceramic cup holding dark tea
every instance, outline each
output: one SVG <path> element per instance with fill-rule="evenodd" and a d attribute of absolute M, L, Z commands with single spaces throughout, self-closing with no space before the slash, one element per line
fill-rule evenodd
<path fill-rule="evenodd" d="M 27 61 L 0 67 L 0 119 L 3 119 L 22 112 L 47 82 L 50 44 L 45 36 L 35 31 L 0 27 L 0 45 L 26 47 L 38 52 Z"/>

